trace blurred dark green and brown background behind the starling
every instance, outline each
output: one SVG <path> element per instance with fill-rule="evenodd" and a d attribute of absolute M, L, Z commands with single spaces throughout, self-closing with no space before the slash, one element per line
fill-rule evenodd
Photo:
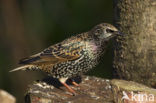
<path fill-rule="evenodd" d="M 46 74 L 9 73 L 19 59 L 112 21 L 112 0 L 0 0 L 0 88 L 23 103 L 28 84 Z M 88 74 L 112 78 L 112 54 L 110 44 L 102 63 Z"/>

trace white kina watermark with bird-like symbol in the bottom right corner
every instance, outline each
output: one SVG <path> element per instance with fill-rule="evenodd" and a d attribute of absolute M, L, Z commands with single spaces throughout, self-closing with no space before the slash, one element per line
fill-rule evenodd
<path fill-rule="evenodd" d="M 154 94 L 146 94 L 146 93 L 126 93 L 122 92 L 123 97 L 122 100 L 135 101 L 135 102 L 154 102 Z"/>

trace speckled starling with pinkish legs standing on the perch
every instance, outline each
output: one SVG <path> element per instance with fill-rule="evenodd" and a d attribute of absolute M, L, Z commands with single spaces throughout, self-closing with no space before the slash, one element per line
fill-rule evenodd
<path fill-rule="evenodd" d="M 115 26 L 100 23 L 91 30 L 73 35 L 62 42 L 56 43 L 30 57 L 21 59 L 18 70 L 40 70 L 56 78 L 72 94 L 76 92 L 66 84 L 67 79 L 82 75 L 96 67 L 101 59 L 108 42 L 123 35 Z M 72 81 L 72 84 L 79 86 Z"/>

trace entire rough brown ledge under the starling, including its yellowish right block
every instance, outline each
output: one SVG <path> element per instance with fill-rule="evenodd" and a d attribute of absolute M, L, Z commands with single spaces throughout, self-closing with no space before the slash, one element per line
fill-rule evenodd
<path fill-rule="evenodd" d="M 48 77 L 42 81 L 36 81 L 29 85 L 25 96 L 25 103 L 139 103 L 131 101 L 132 95 L 135 94 L 152 94 L 156 103 L 156 90 L 125 80 L 108 80 L 92 76 L 82 76 L 74 78 L 80 87 L 75 87 L 67 83 L 76 91 L 76 95 L 71 95 L 58 80 Z M 123 98 L 125 94 L 127 98 Z M 123 99 L 122 99 L 123 98 Z M 138 98 L 138 97 L 135 97 Z"/>

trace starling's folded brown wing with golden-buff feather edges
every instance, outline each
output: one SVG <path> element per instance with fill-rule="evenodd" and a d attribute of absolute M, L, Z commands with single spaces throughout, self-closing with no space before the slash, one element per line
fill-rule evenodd
<path fill-rule="evenodd" d="M 19 64 L 56 64 L 80 58 L 80 51 L 84 48 L 79 42 L 69 44 L 55 44 L 41 53 L 22 59 Z"/>

